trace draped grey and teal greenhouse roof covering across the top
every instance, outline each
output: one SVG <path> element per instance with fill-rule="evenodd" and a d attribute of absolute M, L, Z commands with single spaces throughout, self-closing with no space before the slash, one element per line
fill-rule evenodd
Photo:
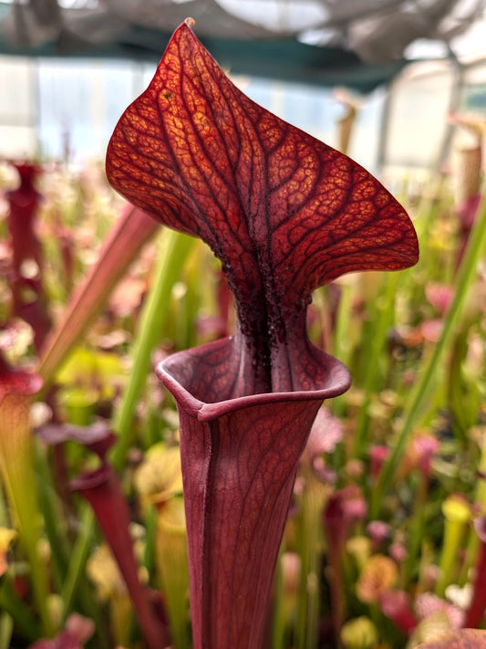
<path fill-rule="evenodd" d="M 419 39 L 453 51 L 485 0 L 0 0 L 0 54 L 159 59 L 187 17 L 234 74 L 346 86 L 388 83 Z M 444 47 L 445 46 L 445 47 Z"/>

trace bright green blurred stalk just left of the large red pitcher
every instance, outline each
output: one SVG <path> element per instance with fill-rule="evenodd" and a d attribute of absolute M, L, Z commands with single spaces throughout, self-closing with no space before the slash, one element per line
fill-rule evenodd
<path fill-rule="evenodd" d="M 140 328 L 132 349 L 133 367 L 129 383 L 123 395 L 114 428 L 119 434 L 111 457 L 113 466 L 120 469 L 132 442 L 132 424 L 137 402 L 147 380 L 150 369 L 150 355 L 165 327 L 168 317 L 167 305 L 171 288 L 181 277 L 182 267 L 195 239 L 179 232 L 165 230 L 161 238 L 159 259 L 155 268 L 150 294 L 140 317 Z"/>

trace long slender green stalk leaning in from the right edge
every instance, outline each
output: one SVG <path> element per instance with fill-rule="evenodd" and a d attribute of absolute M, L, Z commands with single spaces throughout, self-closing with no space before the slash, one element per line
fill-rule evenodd
<path fill-rule="evenodd" d="M 412 433 L 415 424 L 417 424 L 422 408 L 427 402 L 430 386 L 439 367 L 439 362 L 442 361 L 444 352 L 447 350 L 447 345 L 454 333 L 454 328 L 460 319 L 468 288 L 476 276 L 476 268 L 481 259 L 481 253 L 485 245 L 486 200 L 483 199 L 476 218 L 476 223 L 470 233 L 470 241 L 460 266 L 454 298 L 452 299 L 450 309 L 444 319 L 444 325 L 439 341 L 431 353 L 429 361 L 423 368 L 423 371 L 419 374 L 415 388 L 411 393 L 410 401 L 408 402 L 408 406 L 404 413 L 403 424 L 398 434 L 396 444 L 388 458 L 388 461 L 383 466 L 377 481 L 377 488 L 372 494 L 370 507 L 371 518 L 378 518 L 383 497 L 387 493 L 388 487 L 391 484 L 398 462 L 405 449 L 405 445 L 407 444 L 408 437 Z"/>

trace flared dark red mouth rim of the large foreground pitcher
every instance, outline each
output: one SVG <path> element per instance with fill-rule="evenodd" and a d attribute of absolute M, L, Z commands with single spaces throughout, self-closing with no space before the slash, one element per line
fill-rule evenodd
<path fill-rule="evenodd" d="M 233 382 L 222 378 L 221 367 L 214 363 L 221 354 L 230 353 L 231 348 L 232 338 L 224 338 L 191 350 L 178 351 L 161 361 L 155 373 L 184 412 L 202 422 L 264 403 L 324 401 L 345 393 L 351 384 L 346 365 L 315 348 L 321 355 L 323 371 L 314 389 L 256 394 L 234 392 Z M 215 382 L 217 390 L 214 389 Z"/>

